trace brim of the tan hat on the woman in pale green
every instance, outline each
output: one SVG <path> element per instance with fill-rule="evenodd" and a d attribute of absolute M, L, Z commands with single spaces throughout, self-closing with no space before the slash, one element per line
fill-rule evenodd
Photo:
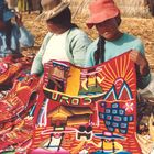
<path fill-rule="evenodd" d="M 38 16 L 36 16 L 36 21 L 47 21 L 52 18 L 55 18 L 62 11 L 64 11 L 66 8 L 68 8 L 69 3 L 65 2 L 63 3 L 63 7 L 57 9 L 56 11 L 52 11 L 52 10 L 48 10 L 48 11 L 44 11 L 43 13 L 41 13 Z"/>

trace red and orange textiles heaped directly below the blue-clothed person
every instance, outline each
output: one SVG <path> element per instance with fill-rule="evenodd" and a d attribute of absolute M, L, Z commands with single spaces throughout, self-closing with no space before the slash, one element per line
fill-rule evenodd
<path fill-rule="evenodd" d="M 33 58 L 7 56 L 0 59 L 0 91 L 12 87 L 15 79 L 21 80 L 28 74 Z"/>

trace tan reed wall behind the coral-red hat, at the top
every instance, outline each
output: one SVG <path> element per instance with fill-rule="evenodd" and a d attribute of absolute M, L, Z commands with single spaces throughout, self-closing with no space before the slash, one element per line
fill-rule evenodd
<path fill-rule="evenodd" d="M 69 0 L 70 9 L 76 15 L 89 15 L 88 4 L 91 0 Z M 114 0 L 124 16 L 150 16 L 147 0 Z"/>

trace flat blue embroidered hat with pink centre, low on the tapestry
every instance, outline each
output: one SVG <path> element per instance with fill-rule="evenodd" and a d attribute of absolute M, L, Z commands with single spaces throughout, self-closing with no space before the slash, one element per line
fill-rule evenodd
<path fill-rule="evenodd" d="M 103 133 L 96 133 L 95 134 L 96 138 L 99 138 L 99 139 L 124 139 L 124 136 L 121 136 L 119 134 L 113 134 L 111 132 L 103 132 Z"/>

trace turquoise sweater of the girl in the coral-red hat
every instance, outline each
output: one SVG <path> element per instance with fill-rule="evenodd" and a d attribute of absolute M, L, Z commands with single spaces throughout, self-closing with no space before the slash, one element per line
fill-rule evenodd
<path fill-rule="evenodd" d="M 95 65 L 94 53 L 97 51 L 97 43 L 98 40 L 96 40 L 94 43 L 89 45 L 86 55 L 85 66 L 90 67 Z M 105 62 L 116 56 L 119 56 L 130 50 L 136 50 L 142 54 L 144 54 L 144 46 L 141 40 L 127 33 L 124 33 L 123 36 L 117 41 L 112 41 L 112 42 L 106 41 L 105 48 L 106 48 Z"/>

